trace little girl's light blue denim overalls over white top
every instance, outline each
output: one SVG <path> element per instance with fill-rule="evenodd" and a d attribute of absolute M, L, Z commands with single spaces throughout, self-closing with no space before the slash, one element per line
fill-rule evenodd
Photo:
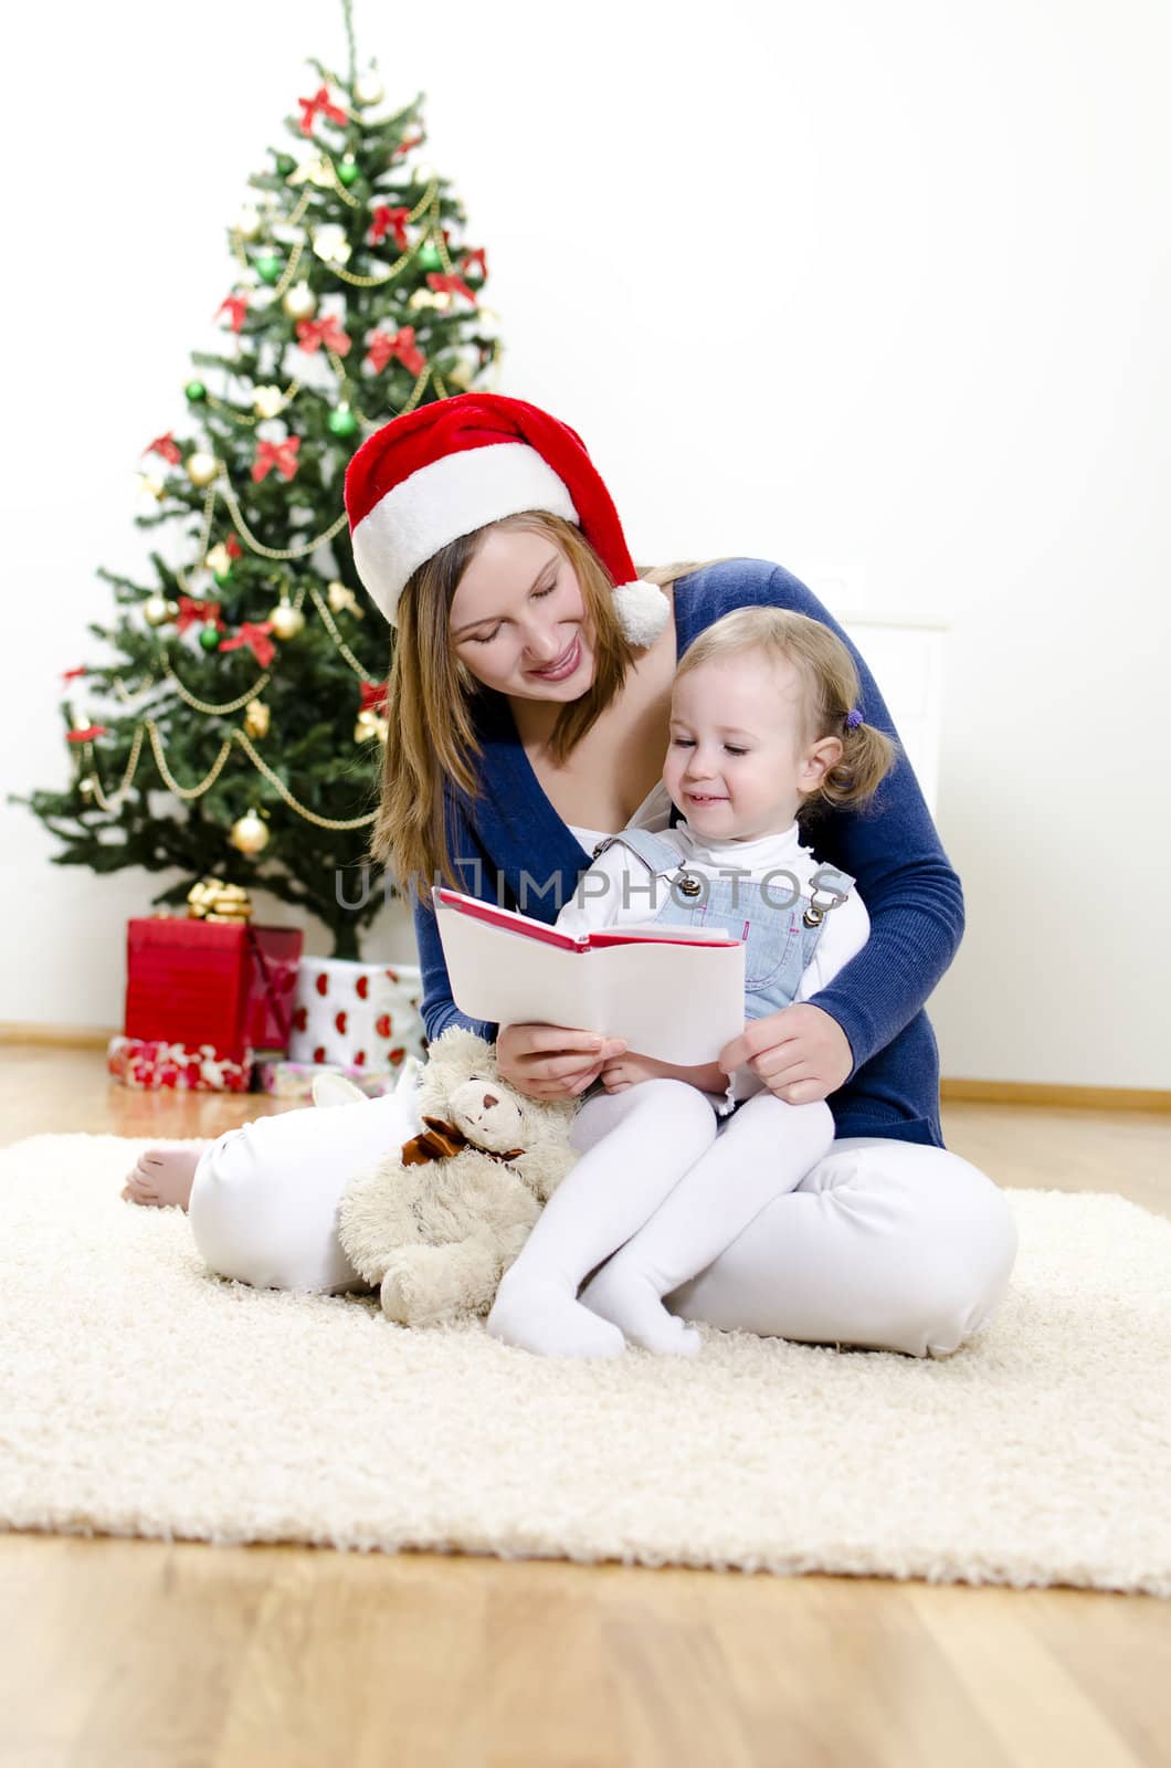
<path fill-rule="evenodd" d="M 635 877 L 630 891 L 631 903 L 646 902 L 647 921 L 656 926 L 709 926 L 743 939 L 746 1020 L 792 1006 L 826 914 L 854 886 L 849 872 L 826 865 L 817 868 L 805 893 L 796 873 L 784 868 L 766 872 L 759 884 L 746 877 L 709 879 L 688 872 L 677 849 L 649 829 L 623 829 L 600 842 L 594 857 L 616 842 L 654 872 L 654 880 Z M 653 903 L 660 903 L 658 912 Z"/>

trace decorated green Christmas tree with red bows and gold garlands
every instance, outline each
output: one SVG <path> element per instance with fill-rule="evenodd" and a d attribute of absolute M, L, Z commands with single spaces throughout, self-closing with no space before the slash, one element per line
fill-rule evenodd
<path fill-rule="evenodd" d="M 389 644 L 345 469 L 396 414 L 467 391 L 499 343 L 485 251 L 416 159 L 423 95 L 386 111 L 343 12 L 348 78 L 310 60 L 285 118 L 299 152 L 271 152 L 230 228 L 219 348 L 191 354 L 182 417 L 143 451 L 136 522 L 166 525 L 172 560 L 150 550 L 152 585 L 97 573 L 117 619 L 88 631 L 113 654 L 64 672 L 71 785 L 12 801 L 60 838 L 55 865 L 177 866 L 165 907 L 203 879 L 262 886 L 356 958 L 386 884 L 366 843 Z"/>

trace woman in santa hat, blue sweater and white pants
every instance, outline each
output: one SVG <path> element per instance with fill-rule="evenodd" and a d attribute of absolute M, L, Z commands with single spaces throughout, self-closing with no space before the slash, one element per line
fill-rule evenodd
<path fill-rule="evenodd" d="M 472 1025 L 522 1091 L 580 1094 L 621 1047 L 460 1015 L 430 884 L 555 921 L 594 845 L 676 820 L 660 778 L 670 688 L 700 631 L 761 605 L 849 640 L 762 560 L 637 583 L 580 437 L 522 400 L 469 392 L 386 424 L 350 463 L 347 509 L 359 575 L 396 626 L 371 850 L 414 898 L 426 1034 Z M 897 739 L 849 649 L 867 723 Z M 819 819 L 817 852 L 856 879 L 870 935 L 815 997 L 754 1020 L 720 1066 L 748 1066 L 787 1103 L 826 1100 L 835 1140 L 665 1305 L 725 1330 L 943 1356 L 994 1312 L 1017 1246 L 1005 1197 L 939 1130 L 923 1002 L 959 944 L 962 891 L 904 758 L 870 804 Z M 129 1195 L 182 1204 L 189 1192 L 196 1245 L 226 1276 L 343 1291 L 357 1278 L 336 1239 L 338 1199 L 416 1128 L 400 1096 L 265 1117 L 198 1165 L 189 1147 L 149 1151 Z"/>

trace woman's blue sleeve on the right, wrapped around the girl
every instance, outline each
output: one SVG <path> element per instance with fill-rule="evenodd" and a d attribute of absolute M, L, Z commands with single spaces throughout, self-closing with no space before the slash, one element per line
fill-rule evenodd
<path fill-rule="evenodd" d="M 768 599 L 838 635 L 858 665 L 865 721 L 897 741 L 874 675 L 817 596 L 775 566 Z M 863 949 L 810 997 L 810 1006 L 830 1013 L 846 1033 L 853 1078 L 911 1024 L 955 956 L 964 934 L 964 891 L 902 753 L 867 804 L 810 820 L 808 840 L 821 859 L 858 880 L 870 916 Z"/>

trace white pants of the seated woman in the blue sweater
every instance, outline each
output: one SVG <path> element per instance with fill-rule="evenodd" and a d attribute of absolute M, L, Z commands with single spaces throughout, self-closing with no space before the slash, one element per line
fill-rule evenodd
<path fill-rule="evenodd" d="M 410 1091 L 228 1130 L 191 1188 L 200 1255 L 262 1289 L 366 1289 L 338 1243 L 338 1204 L 419 1128 Z M 1015 1254 L 1006 1199 L 959 1155 L 846 1137 L 665 1305 L 725 1331 L 948 1356 L 994 1314 Z"/>

